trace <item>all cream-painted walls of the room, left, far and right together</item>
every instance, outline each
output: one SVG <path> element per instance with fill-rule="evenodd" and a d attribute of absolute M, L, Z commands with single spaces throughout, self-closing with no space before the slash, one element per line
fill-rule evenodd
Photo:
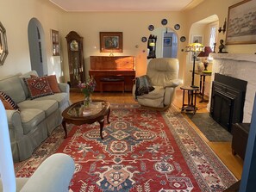
<path fill-rule="evenodd" d="M 179 77 L 189 79 L 187 71 L 187 53 L 181 50 L 189 43 L 190 27 L 193 23 L 203 20 L 209 15 L 217 15 L 222 25 L 228 17 L 228 6 L 240 2 L 240 0 L 205 0 L 196 8 L 179 12 L 70 12 L 67 13 L 47 0 L 1 0 L 0 22 L 7 31 L 9 55 L 3 66 L 0 66 L 0 78 L 18 72 L 30 70 L 30 59 L 28 52 L 28 22 L 35 17 L 45 30 L 47 45 L 47 63 L 49 74 L 63 66 L 66 82 L 69 80 L 66 34 L 77 31 L 84 37 L 84 60 L 86 72 L 89 69 L 89 58 L 91 55 L 109 55 L 99 52 L 100 31 L 121 31 L 123 33 L 123 53 L 116 55 L 134 55 L 136 57 L 136 75 L 142 75 L 147 68 L 147 43 L 141 42 L 142 36 L 149 36 L 151 32 L 148 25 L 153 24 L 155 28 L 162 27 L 161 20 L 167 19 L 167 28 L 180 24 L 178 34 L 178 59 L 180 63 Z M 62 55 L 53 57 L 51 53 L 50 29 L 59 31 Z M 181 36 L 186 37 L 185 42 L 180 42 Z M 48 38 L 47 38 L 48 37 Z M 219 40 L 225 35 L 220 34 Z M 218 41 L 219 41 L 218 40 Z M 139 48 L 135 48 L 138 45 Z M 218 46 L 218 45 L 217 45 Z M 96 48 L 95 48 L 96 47 Z M 143 53 L 143 51 L 146 51 Z M 253 53 L 255 45 L 228 46 L 229 53 Z"/>

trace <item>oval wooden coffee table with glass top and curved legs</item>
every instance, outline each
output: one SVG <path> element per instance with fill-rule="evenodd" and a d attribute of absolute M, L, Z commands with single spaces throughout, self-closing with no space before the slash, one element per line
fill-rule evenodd
<path fill-rule="evenodd" d="M 104 116 L 107 115 L 109 123 L 110 104 L 103 100 L 92 100 L 90 109 L 84 109 L 84 101 L 75 102 L 62 112 L 62 126 L 67 136 L 66 123 L 80 126 L 98 122 L 100 124 L 100 136 L 103 139 Z"/>

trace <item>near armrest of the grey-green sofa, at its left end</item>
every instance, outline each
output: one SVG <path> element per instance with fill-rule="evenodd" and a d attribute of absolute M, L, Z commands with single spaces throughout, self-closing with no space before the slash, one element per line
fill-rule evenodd
<path fill-rule="evenodd" d="M 23 137 L 21 114 L 17 110 L 5 110 L 8 120 L 8 127 L 14 133 L 16 139 Z"/>

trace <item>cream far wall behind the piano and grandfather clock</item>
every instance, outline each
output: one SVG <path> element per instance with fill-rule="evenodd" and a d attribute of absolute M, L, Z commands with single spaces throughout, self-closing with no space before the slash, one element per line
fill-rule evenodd
<path fill-rule="evenodd" d="M 70 31 L 74 30 L 84 37 L 84 61 L 86 75 L 90 69 L 91 55 L 109 55 L 100 53 L 99 32 L 122 32 L 123 33 L 123 53 L 114 55 L 133 55 L 136 59 L 136 75 L 146 73 L 147 69 L 147 42 L 142 42 L 141 37 L 149 37 L 156 28 L 162 27 L 161 20 L 167 19 L 167 28 L 174 27 L 179 23 L 181 29 L 177 31 L 178 38 L 185 34 L 187 30 L 184 15 L 178 12 L 89 12 L 89 13 L 66 13 L 62 28 L 62 36 L 65 37 Z M 147 28 L 153 24 L 155 30 L 149 31 Z M 68 80 L 67 48 L 66 39 L 62 38 L 62 48 L 64 53 L 65 77 Z M 138 45 L 138 48 L 135 46 Z M 179 42 L 179 49 L 186 46 L 186 42 Z M 181 62 L 182 77 L 183 62 L 182 53 L 178 52 Z"/>

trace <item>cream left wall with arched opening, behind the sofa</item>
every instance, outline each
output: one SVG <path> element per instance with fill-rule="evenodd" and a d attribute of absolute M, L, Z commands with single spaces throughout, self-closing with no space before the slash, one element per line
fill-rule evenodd
<path fill-rule="evenodd" d="M 46 36 L 47 64 L 49 74 L 53 73 L 54 66 L 60 65 L 60 59 L 53 59 L 50 43 L 50 29 L 59 30 L 62 25 L 63 11 L 46 0 L 1 0 L 0 22 L 7 34 L 9 55 L 0 66 L 0 78 L 19 72 L 31 70 L 28 51 L 28 22 L 37 18 L 44 28 Z"/>

